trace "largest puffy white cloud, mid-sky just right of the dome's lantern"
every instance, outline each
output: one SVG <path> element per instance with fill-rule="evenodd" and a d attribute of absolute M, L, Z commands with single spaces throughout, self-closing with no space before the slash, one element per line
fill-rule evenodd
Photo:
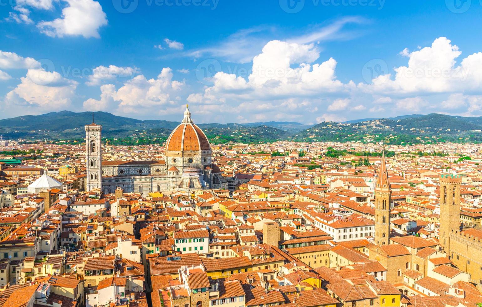
<path fill-rule="evenodd" d="M 217 72 L 213 77 L 214 85 L 205 89 L 204 98 L 206 101 L 314 98 L 343 92 L 347 86 L 354 87 L 354 84 L 345 85 L 336 80 L 333 58 L 321 64 L 309 64 L 318 57 L 319 50 L 313 44 L 268 42 L 262 53 L 254 57 L 252 73 L 247 80 Z"/>

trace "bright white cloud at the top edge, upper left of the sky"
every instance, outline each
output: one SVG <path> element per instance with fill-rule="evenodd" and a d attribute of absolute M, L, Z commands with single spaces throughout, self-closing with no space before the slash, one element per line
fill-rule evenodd
<path fill-rule="evenodd" d="M 37 26 L 51 37 L 77 36 L 99 38 L 99 28 L 107 25 L 107 15 L 94 0 L 65 0 L 62 18 L 42 21 Z"/>

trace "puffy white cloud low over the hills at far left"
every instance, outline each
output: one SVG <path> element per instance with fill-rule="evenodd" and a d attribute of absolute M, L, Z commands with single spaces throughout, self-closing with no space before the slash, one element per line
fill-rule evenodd
<path fill-rule="evenodd" d="M 58 72 L 43 69 L 29 69 L 20 80 L 21 83 L 5 96 L 5 103 L 37 111 L 65 110 L 70 106 L 78 84 Z"/>

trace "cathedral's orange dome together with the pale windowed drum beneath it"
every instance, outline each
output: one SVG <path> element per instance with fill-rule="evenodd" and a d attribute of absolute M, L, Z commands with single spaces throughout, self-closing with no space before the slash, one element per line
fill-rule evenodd
<path fill-rule="evenodd" d="M 206 135 L 194 125 L 186 106 L 182 123 L 171 132 L 166 142 L 167 175 L 202 174 L 206 167 L 211 166 L 211 154 Z"/>

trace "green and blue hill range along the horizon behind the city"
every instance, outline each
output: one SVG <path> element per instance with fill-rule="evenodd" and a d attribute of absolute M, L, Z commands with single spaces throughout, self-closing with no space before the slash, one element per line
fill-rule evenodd
<path fill-rule="evenodd" d="M 103 137 L 120 143 L 152 143 L 165 140 L 179 122 L 137 120 L 107 112 L 94 112 L 95 123 L 103 126 Z M 8 139 L 73 140 L 85 136 L 84 125 L 92 112 L 50 112 L 0 120 L 0 135 Z M 213 143 L 296 141 L 364 141 L 391 144 L 441 141 L 482 141 L 482 117 L 432 113 L 392 118 L 365 118 L 343 123 L 323 122 L 309 126 L 295 122 L 248 124 L 198 124 Z M 139 142 L 141 141 L 141 142 Z"/>

